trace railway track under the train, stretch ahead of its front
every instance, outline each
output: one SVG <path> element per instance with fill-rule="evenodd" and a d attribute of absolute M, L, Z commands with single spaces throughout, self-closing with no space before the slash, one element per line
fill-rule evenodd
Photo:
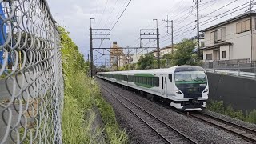
<path fill-rule="evenodd" d="M 237 135 L 239 138 L 256 144 L 256 130 L 240 126 L 234 122 L 229 122 L 221 118 L 216 118 L 209 114 L 201 112 L 190 113 L 190 116 L 202 122 L 206 122 L 212 126 L 216 126 L 222 130 L 226 130 L 230 134 Z"/>

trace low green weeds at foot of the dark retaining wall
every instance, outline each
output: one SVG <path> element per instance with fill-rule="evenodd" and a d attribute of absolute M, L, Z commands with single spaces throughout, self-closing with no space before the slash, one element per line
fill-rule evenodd
<path fill-rule="evenodd" d="M 224 114 L 232 118 L 238 118 L 245 122 L 250 122 L 256 124 L 256 110 L 242 113 L 242 110 L 234 110 L 231 105 L 224 106 L 224 102 L 220 101 L 210 101 L 207 104 L 207 110 L 214 111 L 216 113 Z"/>

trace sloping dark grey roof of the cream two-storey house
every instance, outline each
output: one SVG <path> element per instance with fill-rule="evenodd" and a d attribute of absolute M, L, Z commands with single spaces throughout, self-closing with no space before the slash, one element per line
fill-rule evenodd
<path fill-rule="evenodd" d="M 235 21 L 238 21 L 242 18 L 247 18 L 247 17 L 250 17 L 250 16 L 256 16 L 256 13 L 255 12 L 249 12 L 249 13 L 240 14 L 240 15 L 234 17 L 234 18 L 230 18 L 230 19 L 228 19 L 224 22 L 220 22 L 217 25 L 210 26 L 210 27 L 208 27 L 204 30 L 201 30 L 201 32 L 206 32 L 208 30 L 212 30 L 212 29 L 218 28 L 219 26 L 224 26 L 224 25 L 229 24 L 231 22 L 235 22 Z"/>

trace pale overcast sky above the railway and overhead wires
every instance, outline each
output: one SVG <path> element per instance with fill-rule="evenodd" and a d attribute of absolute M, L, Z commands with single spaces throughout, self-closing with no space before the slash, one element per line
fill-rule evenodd
<path fill-rule="evenodd" d="M 252 0 L 253 3 L 256 0 Z M 130 0 L 48 0 L 51 14 L 59 26 L 65 26 L 70 38 L 87 59 L 90 53 L 90 18 L 93 29 L 112 29 Z M 228 18 L 242 14 L 248 9 L 250 0 L 199 0 L 199 29 L 203 30 Z M 254 6 L 256 7 L 256 6 Z M 167 34 L 167 18 L 174 21 L 174 43 L 183 38 L 196 36 L 196 6 L 193 0 L 131 0 L 122 17 L 111 30 L 111 43 L 118 42 L 121 47 L 139 47 L 140 30 L 155 29 L 158 19 L 160 47 L 171 44 L 171 35 Z M 170 26 L 170 22 L 169 22 Z M 170 28 L 169 28 L 170 32 Z M 154 38 L 154 37 L 151 37 Z M 100 40 L 94 40 L 94 47 L 100 46 Z M 155 47 L 154 40 L 144 40 L 143 45 Z M 101 47 L 109 46 L 104 40 Z M 148 49 L 152 51 L 154 49 Z M 101 66 L 110 56 L 106 50 L 94 51 L 94 63 Z M 136 53 L 136 50 L 130 54 Z M 141 53 L 138 50 L 137 53 Z M 143 51 L 146 53 L 146 50 Z M 106 54 L 102 56 L 102 54 Z"/>

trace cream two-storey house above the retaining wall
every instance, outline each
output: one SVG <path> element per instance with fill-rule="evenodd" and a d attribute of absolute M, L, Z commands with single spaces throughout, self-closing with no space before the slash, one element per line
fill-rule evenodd
<path fill-rule="evenodd" d="M 205 62 L 256 60 L 256 13 L 245 13 L 202 30 Z"/>

